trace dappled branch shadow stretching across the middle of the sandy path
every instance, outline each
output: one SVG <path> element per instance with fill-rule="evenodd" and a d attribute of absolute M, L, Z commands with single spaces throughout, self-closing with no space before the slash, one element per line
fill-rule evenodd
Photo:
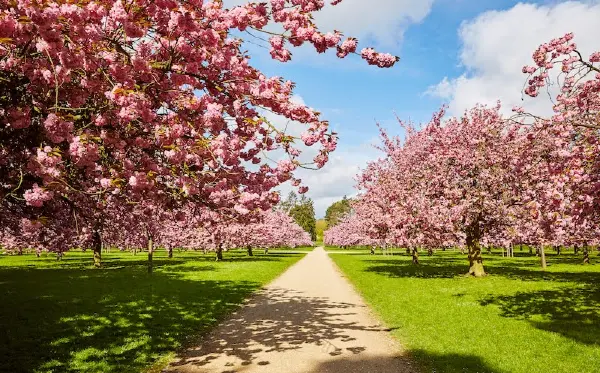
<path fill-rule="evenodd" d="M 360 356 L 369 352 L 369 346 L 361 345 L 350 334 L 391 330 L 353 319 L 360 307 L 365 306 L 270 288 L 254 297 L 197 347 L 181 354 L 169 371 L 221 372 L 236 371 L 236 365 L 268 365 L 269 355 L 265 353 L 297 350 L 301 345 L 318 346 L 320 353 L 332 357 Z"/>

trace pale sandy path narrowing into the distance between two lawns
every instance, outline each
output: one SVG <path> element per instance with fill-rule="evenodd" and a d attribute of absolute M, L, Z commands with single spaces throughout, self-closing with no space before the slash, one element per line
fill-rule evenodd
<path fill-rule="evenodd" d="M 201 294 L 199 294 L 201 296 Z M 401 346 L 323 248 L 308 253 L 165 372 L 409 373 Z"/>

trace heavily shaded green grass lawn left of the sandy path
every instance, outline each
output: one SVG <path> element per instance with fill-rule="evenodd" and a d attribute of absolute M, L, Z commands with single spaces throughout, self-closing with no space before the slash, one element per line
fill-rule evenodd
<path fill-rule="evenodd" d="M 1 372 L 160 371 L 303 254 L 164 251 L 0 256 Z"/>

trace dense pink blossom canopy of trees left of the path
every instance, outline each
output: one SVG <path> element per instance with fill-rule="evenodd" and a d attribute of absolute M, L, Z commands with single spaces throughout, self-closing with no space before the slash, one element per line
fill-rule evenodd
<path fill-rule="evenodd" d="M 293 82 L 251 65 L 244 38 L 268 38 L 282 62 L 310 45 L 394 65 L 318 28 L 314 13 L 338 3 L 0 0 L 0 245 L 99 258 L 104 237 L 151 247 L 176 215 L 224 229 L 269 210 L 281 183 L 305 192 L 303 147 L 320 168 L 337 136 Z"/>

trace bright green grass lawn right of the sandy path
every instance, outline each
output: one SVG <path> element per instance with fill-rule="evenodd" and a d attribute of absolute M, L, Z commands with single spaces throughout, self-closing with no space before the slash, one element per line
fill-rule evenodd
<path fill-rule="evenodd" d="M 331 257 L 424 372 L 600 372 L 600 264 L 516 255 L 484 254 L 481 279 L 456 252 Z"/>

